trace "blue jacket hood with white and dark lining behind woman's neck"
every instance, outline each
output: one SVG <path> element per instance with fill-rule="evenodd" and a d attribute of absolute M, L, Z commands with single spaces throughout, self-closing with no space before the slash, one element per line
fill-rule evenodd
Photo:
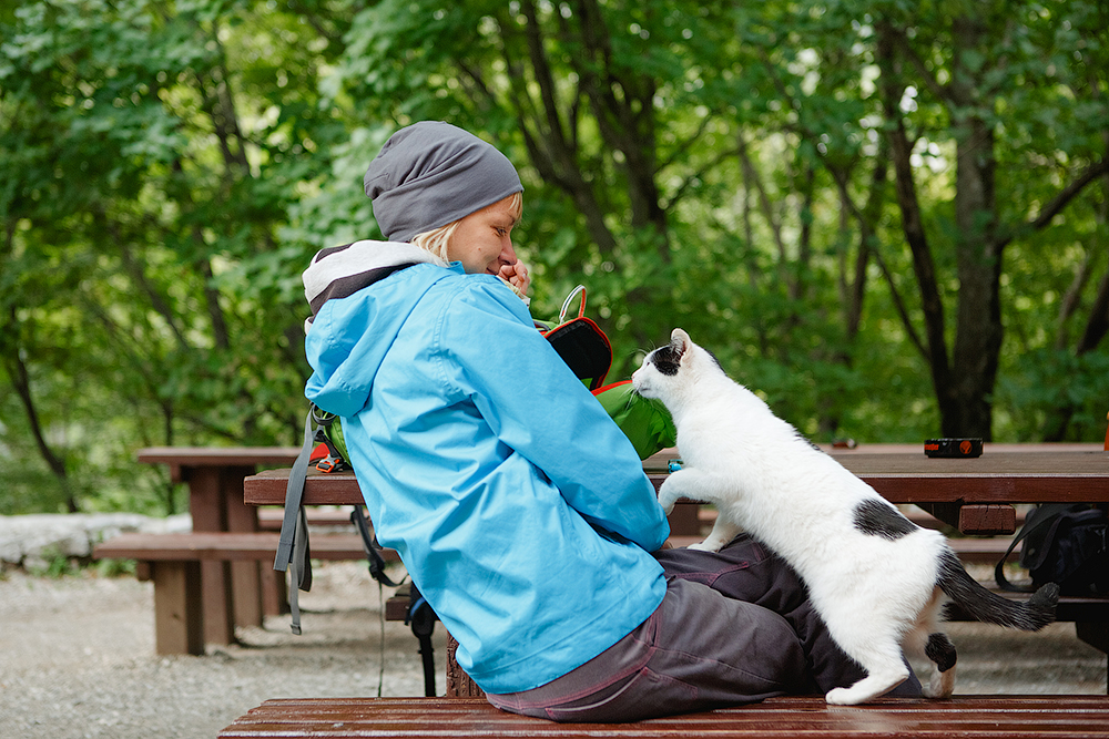
<path fill-rule="evenodd" d="M 446 269 L 414 268 L 435 265 Z M 366 290 L 394 273 L 384 289 Z M 440 279 L 465 274 L 413 244 L 355 242 L 324 249 L 304 273 L 312 306 L 304 348 L 313 374 L 305 396 L 339 417 L 357 413 L 369 399 L 373 377 L 416 304 Z"/>

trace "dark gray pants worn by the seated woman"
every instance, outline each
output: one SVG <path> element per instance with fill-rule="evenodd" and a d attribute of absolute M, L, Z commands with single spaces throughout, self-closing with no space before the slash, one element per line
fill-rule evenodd
<path fill-rule="evenodd" d="M 793 569 L 740 535 L 720 552 L 662 550 L 667 596 L 631 634 L 533 690 L 494 706 L 557 721 L 634 721 L 823 695 L 864 677 L 832 640 Z M 892 695 L 919 696 L 915 676 Z"/>

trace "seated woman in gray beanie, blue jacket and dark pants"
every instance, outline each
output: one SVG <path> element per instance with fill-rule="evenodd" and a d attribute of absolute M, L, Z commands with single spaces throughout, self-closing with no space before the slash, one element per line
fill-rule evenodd
<path fill-rule="evenodd" d="M 306 394 L 343 418 L 378 540 L 490 702 L 621 721 L 855 681 L 755 542 L 660 551 L 639 456 L 517 295 L 511 163 L 423 122 L 365 187 L 388 242 L 325 249 L 305 273 Z"/>

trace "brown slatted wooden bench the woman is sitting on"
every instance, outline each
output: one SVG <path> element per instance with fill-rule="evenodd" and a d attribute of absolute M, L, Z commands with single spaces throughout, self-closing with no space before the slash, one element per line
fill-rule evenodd
<path fill-rule="evenodd" d="M 740 708 L 633 723 L 554 723 L 502 712 L 481 698 L 304 698 L 267 700 L 218 739 L 376 737 L 414 739 L 686 739 L 689 737 L 1109 737 L 1107 696 L 883 698 L 828 707 L 823 698 L 783 697 Z"/>

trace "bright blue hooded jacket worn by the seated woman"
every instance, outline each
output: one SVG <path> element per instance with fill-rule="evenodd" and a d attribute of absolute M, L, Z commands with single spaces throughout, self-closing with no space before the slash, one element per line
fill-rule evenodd
<path fill-rule="evenodd" d="M 662 602 L 639 456 L 497 278 L 407 267 L 326 300 L 305 346 L 378 540 L 484 690 L 560 677 Z"/>

